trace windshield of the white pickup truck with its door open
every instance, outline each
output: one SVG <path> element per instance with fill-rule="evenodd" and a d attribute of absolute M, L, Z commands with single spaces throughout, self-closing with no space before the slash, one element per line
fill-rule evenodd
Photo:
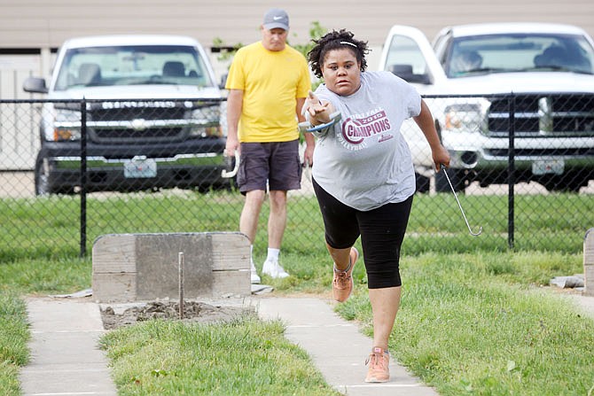
<path fill-rule="evenodd" d="M 594 74 L 594 50 L 581 35 L 457 37 L 443 60 L 444 70 L 450 78 L 540 70 Z"/>

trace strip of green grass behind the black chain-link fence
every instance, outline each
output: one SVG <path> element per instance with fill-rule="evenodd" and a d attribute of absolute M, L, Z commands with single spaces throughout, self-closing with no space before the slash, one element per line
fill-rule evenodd
<path fill-rule="evenodd" d="M 415 197 L 408 237 L 403 248 L 423 252 L 506 252 L 508 210 L 506 196 L 460 196 L 473 229 L 468 234 L 452 194 Z M 130 232 L 206 232 L 238 229 L 243 198 L 237 192 L 197 194 L 114 194 L 87 199 L 85 248 L 91 252 L 99 236 Z M 0 199 L 0 262 L 21 259 L 76 257 L 80 251 L 78 197 Z M 262 208 L 256 252 L 265 251 L 268 203 Z M 581 252 L 583 236 L 592 227 L 591 195 L 520 195 L 515 198 L 514 249 L 533 252 Z M 324 240 L 316 198 L 290 196 L 284 252 L 308 254 Z"/>

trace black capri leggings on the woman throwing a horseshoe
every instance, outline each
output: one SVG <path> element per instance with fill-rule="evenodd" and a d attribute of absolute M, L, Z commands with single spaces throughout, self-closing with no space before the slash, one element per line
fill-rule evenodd
<path fill-rule="evenodd" d="M 335 249 L 355 244 L 361 236 L 370 289 L 401 286 L 400 246 L 409 222 L 412 198 L 367 212 L 344 205 L 312 180 L 324 219 L 326 243 Z"/>

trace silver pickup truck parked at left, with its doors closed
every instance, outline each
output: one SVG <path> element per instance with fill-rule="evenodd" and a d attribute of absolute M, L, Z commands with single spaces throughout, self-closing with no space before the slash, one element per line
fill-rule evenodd
<path fill-rule="evenodd" d="M 231 166 L 223 158 L 224 99 L 206 52 L 190 37 L 67 40 L 49 86 L 31 77 L 23 88 L 51 99 L 41 114 L 38 195 L 81 186 L 84 119 L 89 191 L 207 190 L 230 183 L 221 176 Z"/>

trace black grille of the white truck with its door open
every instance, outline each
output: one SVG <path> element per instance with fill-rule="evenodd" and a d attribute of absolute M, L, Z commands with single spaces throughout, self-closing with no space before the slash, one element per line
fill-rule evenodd
<path fill-rule="evenodd" d="M 515 135 L 594 136 L 594 95 L 517 95 Z M 510 99 L 491 101 L 488 135 L 508 136 Z"/>

